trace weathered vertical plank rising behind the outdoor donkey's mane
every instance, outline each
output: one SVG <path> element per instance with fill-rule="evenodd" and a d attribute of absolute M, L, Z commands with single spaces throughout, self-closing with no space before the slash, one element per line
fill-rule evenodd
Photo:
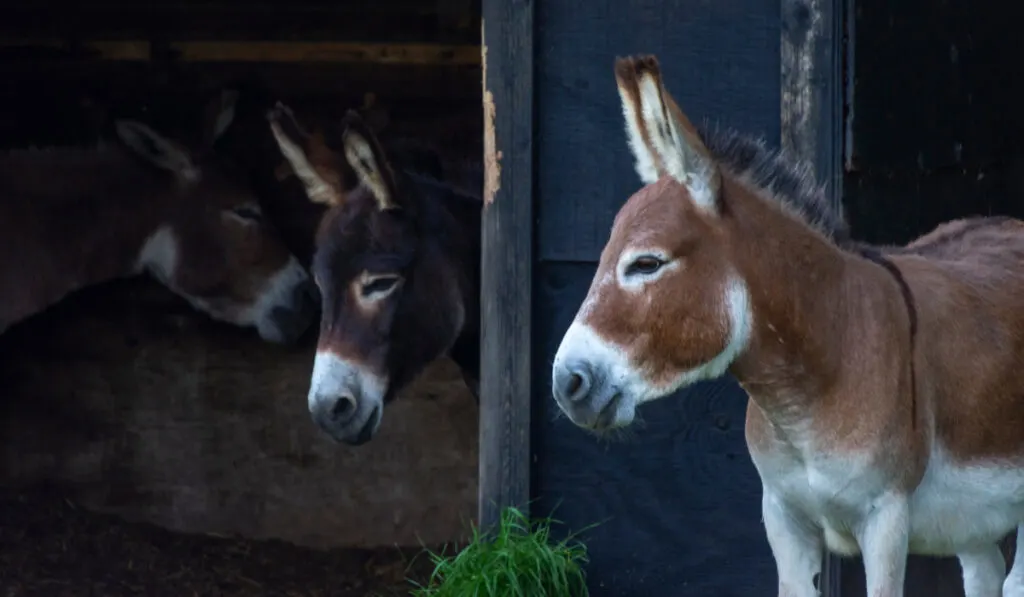
<path fill-rule="evenodd" d="M 813 164 L 841 203 L 844 0 L 781 1 L 782 148 Z M 842 561 L 826 552 L 818 579 L 822 597 L 841 596 L 841 570 Z"/>

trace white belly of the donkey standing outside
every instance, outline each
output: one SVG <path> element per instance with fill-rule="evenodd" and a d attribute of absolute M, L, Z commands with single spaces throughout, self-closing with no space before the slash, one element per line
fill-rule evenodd
<path fill-rule="evenodd" d="M 910 552 L 952 555 L 991 544 L 1024 521 L 1024 466 L 951 463 L 937 450 L 910 498 Z"/>

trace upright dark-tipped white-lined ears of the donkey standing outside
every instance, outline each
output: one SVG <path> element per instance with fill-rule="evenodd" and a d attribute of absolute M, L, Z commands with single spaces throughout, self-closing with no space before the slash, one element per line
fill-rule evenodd
<path fill-rule="evenodd" d="M 671 176 L 686 186 L 697 206 L 715 209 L 721 187 L 718 165 L 665 89 L 657 58 L 617 58 L 615 83 L 640 179 L 649 184 Z"/>

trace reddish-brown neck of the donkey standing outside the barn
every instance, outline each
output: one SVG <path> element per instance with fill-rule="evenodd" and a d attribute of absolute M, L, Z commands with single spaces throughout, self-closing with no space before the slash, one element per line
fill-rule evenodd
<path fill-rule="evenodd" d="M 822 410 L 842 410 L 836 402 L 853 398 L 851 390 L 870 391 L 868 385 L 891 379 L 906 308 L 879 264 L 763 198 L 733 195 L 734 251 L 755 324 L 730 371 L 776 428 L 803 428 Z"/>

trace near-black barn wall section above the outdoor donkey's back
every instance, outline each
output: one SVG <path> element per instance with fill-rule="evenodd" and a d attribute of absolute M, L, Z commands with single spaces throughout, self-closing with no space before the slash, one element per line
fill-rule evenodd
<path fill-rule="evenodd" d="M 1013 19 L 967 0 L 856 0 L 852 171 L 844 200 L 858 237 L 905 243 L 972 214 L 1024 216 L 1024 75 Z M 1013 537 L 1005 541 L 1008 557 Z M 864 595 L 845 559 L 844 597 Z M 911 557 L 907 597 L 962 597 L 954 558 Z"/>

